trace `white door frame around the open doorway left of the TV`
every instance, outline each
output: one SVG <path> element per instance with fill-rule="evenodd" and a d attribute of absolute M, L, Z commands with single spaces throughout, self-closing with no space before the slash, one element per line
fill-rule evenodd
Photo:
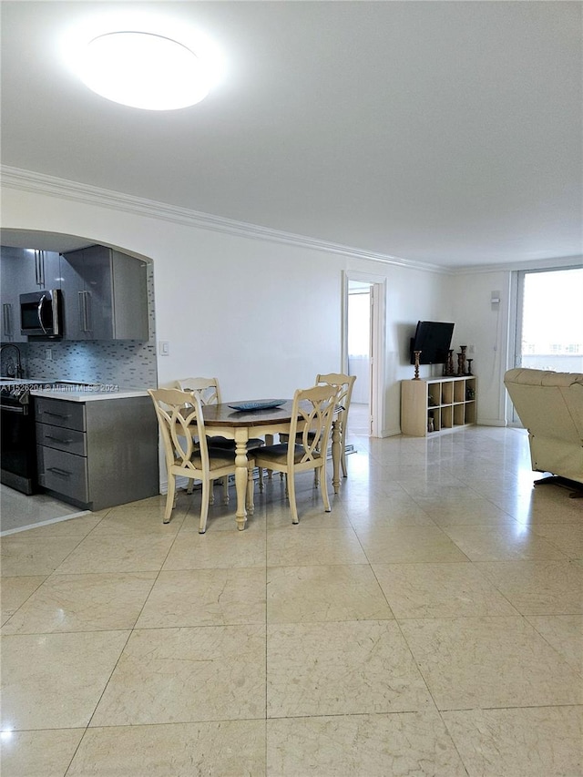
<path fill-rule="evenodd" d="M 348 371 L 348 289 L 349 281 L 371 285 L 371 437 L 384 434 L 384 353 L 386 316 L 386 278 L 372 272 L 343 270 L 342 371 Z"/>

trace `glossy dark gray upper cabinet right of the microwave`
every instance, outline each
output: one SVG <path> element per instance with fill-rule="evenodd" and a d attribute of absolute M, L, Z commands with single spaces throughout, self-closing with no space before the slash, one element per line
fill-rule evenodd
<path fill-rule="evenodd" d="M 148 340 L 146 262 L 106 246 L 61 256 L 65 340 Z"/>

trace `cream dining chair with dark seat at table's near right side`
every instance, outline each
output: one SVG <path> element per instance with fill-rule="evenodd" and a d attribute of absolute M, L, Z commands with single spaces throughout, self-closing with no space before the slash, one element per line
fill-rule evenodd
<path fill-rule="evenodd" d="M 266 445 L 253 451 L 255 465 L 286 475 L 286 494 L 292 508 L 292 523 L 299 523 L 295 498 L 295 475 L 314 470 L 320 476 L 325 512 L 331 510 L 326 482 L 326 458 L 332 430 L 332 417 L 337 404 L 338 387 L 313 386 L 293 394 L 292 421 L 288 442 Z M 295 441 L 295 442 L 292 442 Z"/>

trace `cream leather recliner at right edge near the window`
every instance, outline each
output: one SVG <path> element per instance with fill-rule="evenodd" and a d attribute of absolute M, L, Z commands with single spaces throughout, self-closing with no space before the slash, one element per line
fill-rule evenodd
<path fill-rule="evenodd" d="M 528 430 L 532 468 L 555 475 L 536 483 L 583 486 L 583 374 L 517 368 L 504 383 Z"/>

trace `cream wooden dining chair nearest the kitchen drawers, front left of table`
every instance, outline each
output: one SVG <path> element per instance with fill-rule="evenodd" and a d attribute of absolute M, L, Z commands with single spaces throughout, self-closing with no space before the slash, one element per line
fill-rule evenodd
<path fill-rule="evenodd" d="M 178 389 L 148 389 L 148 394 L 156 409 L 168 473 L 164 523 L 169 523 L 172 510 L 176 506 L 176 478 L 178 476 L 188 478 L 189 485 L 199 480 L 202 483 L 199 534 L 204 534 L 207 529 L 212 485 L 218 478 L 227 478 L 224 497 L 226 502 L 229 501 L 228 476 L 235 474 L 235 454 L 228 450 L 210 449 L 207 445 L 202 404 L 196 393 Z M 248 458 L 247 505 L 252 512 L 251 475 L 255 464 L 251 456 Z M 190 488 L 189 493 L 191 490 Z"/>

